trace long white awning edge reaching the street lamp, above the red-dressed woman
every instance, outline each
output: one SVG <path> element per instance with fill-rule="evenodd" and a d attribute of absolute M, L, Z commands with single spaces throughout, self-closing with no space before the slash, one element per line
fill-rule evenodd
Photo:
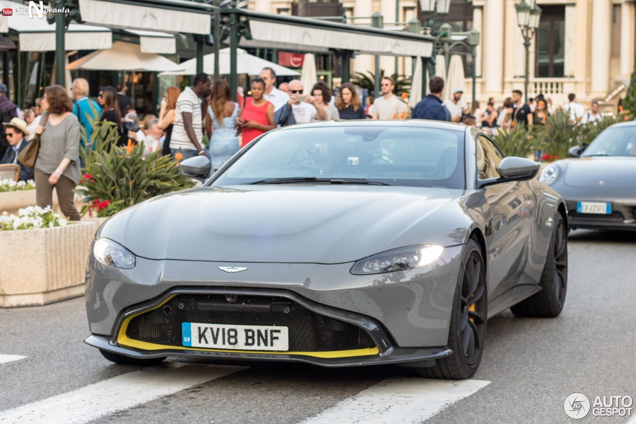
<path fill-rule="evenodd" d="M 241 46 L 283 50 L 305 48 L 310 52 L 328 52 L 329 48 L 340 48 L 363 54 L 420 57 L 430 57 L 433 48 L 432 41 L 392 37 L 391 33 L 345 33 L 339 29 L 282 24 L 254 18 L 249 21 L 249 29 L 252 39 L 242 38 L 239 43 Z"/>

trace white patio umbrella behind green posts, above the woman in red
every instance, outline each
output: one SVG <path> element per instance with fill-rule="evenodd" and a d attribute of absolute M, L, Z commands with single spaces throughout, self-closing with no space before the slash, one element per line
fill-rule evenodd
<path fill-rule="evenodd" d="M 230 73 L 230 48 L 223 48 L 219 51 L 219 73 L 226 75 Z M 197 73 L 197 59 L 186 60 L 179 64 L 183 71 L 167 71 L 162 72 L 163 75 L 194 75 Z M 237 74 L 258 75 L 264 67 L 271 67 L 277 75 L 298 75 L 284 66 L 280 66 L 269 60 L 261 59 L 251 55 L 242 48 L 237 48 Z M 214 73 L 214 53 L 210 53 L 203 57 L 203 71 L 207 74 Z"/>

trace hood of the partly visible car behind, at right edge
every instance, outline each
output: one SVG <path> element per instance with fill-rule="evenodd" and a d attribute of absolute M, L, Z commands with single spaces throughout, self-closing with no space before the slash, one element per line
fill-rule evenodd
<path fill-rule="evenodd" d="M 636 157 L 590 156 L 570 159 L 563 183 L 570 187 L 636 187 Z"/>

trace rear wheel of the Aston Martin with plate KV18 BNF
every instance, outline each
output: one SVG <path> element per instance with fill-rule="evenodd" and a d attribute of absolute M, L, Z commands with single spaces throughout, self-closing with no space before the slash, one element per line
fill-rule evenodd
<path fill-rule="evenodd" d="M 524 299 L 510 310 L 516 316 L 554 318 L 563 310 L 567 292 L 567 233 L 563 217 L 556 214 L 550 248 L 539 286 L 541 292 Z"/>

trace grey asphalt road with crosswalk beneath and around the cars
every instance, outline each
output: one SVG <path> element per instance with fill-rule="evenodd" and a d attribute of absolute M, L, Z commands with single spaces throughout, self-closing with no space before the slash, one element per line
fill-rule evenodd
<path fill-rule="evenodd" d="M 480 388 L 454 400 L 441 396 L 443 405 L 438 408 L 436 396 L 461 389 L 462 383 L 438 388 L 434 386 L 438 383 L 413 377 L 408 369 L 388 366 L 323 369 L 232 362 L 228 364 L 242 368 L 229 369 L 202 361 L 187 361 L 180 367 L 184 361 L 175 358 L 154 370 L 140 371 L 141 367 L 111 364 L 82 342 L 88 335 L 83 299 L 0 309 L 0 362 L 2 355 L 25 357 L 0 363 L 0 423 L 20 422 L 8 412 L 25 405 L 43 408 L 43 422 L 50 423 L 370 422 L 352 418 L 361 417 L 356 408 L 366 399 L 357 395 L 371 393 L 366 404 L 371 410 L 365 412 L 378 417 L 393 402 L 382 396 L 405 390 L 406 383 L 431 385 L 431 392 L 421 396 L 432 413 L 438 412 L 425 420 L 427 424 L 567 423 L 563 400 L 571 392 L 586 393 L 592 400 L 597 395 L 636 398 L 636 233 L 574 231 L 569 257 L 563 313 L 539 320 L 515 318 L 506 311 L 492 318 L 481 367 L 473 378 Z M 143 389 L 135 386 L 139 376 L 153 372 L 156 379 Z M 190 380 L 183 390 L 176 385 L 180 372 L 192 374 L 184 377 Z M 215 372 L 222 376 L 215 378 Z M 158 393 L 151 399 L 149 388 L 161 391 L 173 383 L 174 393 Z M 131 392 L 122 391 L 131 384 Z M 69 400 L 68 393 L 74 390 L 88 400 Z M 86 402 L 95 402 L 93 409 L 99 409 L 99 402 L 91 397 L 94 391 L 111 396 L 111 402 L 102 405 L 107 413 L 92 418 L 89 414 L 86 419 L 73 414 L 71 408 L 86 407 Z M 113 404 L 135 396 L 141 399 L 136 406 L 114 411 Z M 636 415 L 636 405 L 633 408 Z M 417 416 L 390 413 L 384 422 L 422 421 Z M 628 421 L 589 416 L 583 422 Z"/>

